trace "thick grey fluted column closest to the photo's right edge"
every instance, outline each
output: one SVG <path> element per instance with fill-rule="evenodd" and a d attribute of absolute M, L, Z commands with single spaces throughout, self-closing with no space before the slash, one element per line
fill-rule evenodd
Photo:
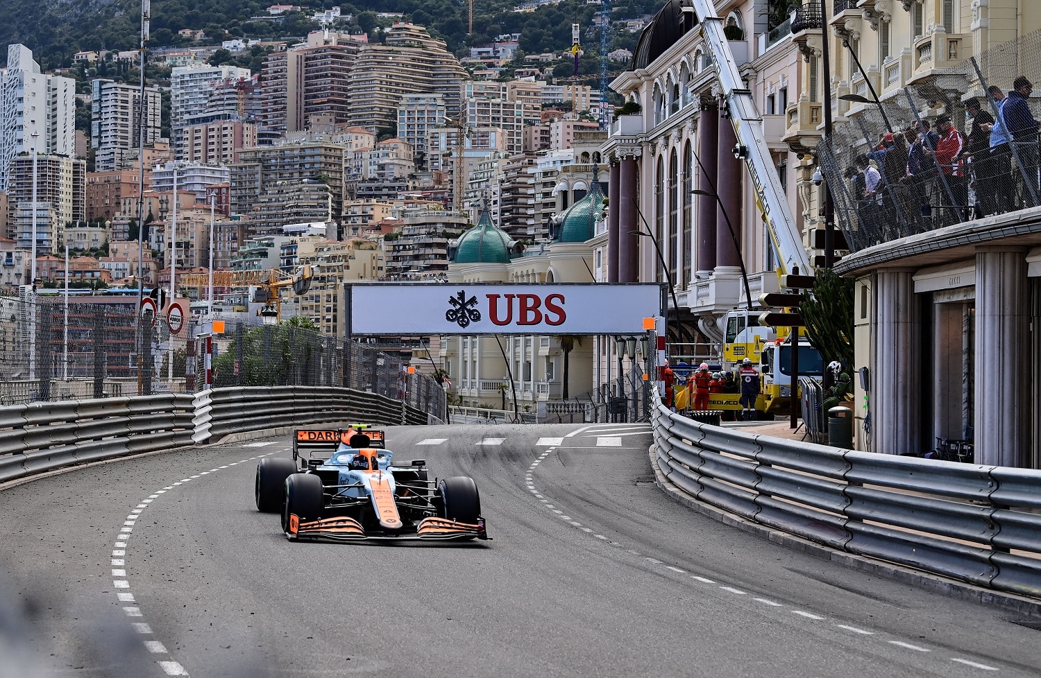
<path fill-rule="evenodd" d="M 1030 328 L 1026 250 L 976 250 L 975 461 L 1026 467 Z"/>

